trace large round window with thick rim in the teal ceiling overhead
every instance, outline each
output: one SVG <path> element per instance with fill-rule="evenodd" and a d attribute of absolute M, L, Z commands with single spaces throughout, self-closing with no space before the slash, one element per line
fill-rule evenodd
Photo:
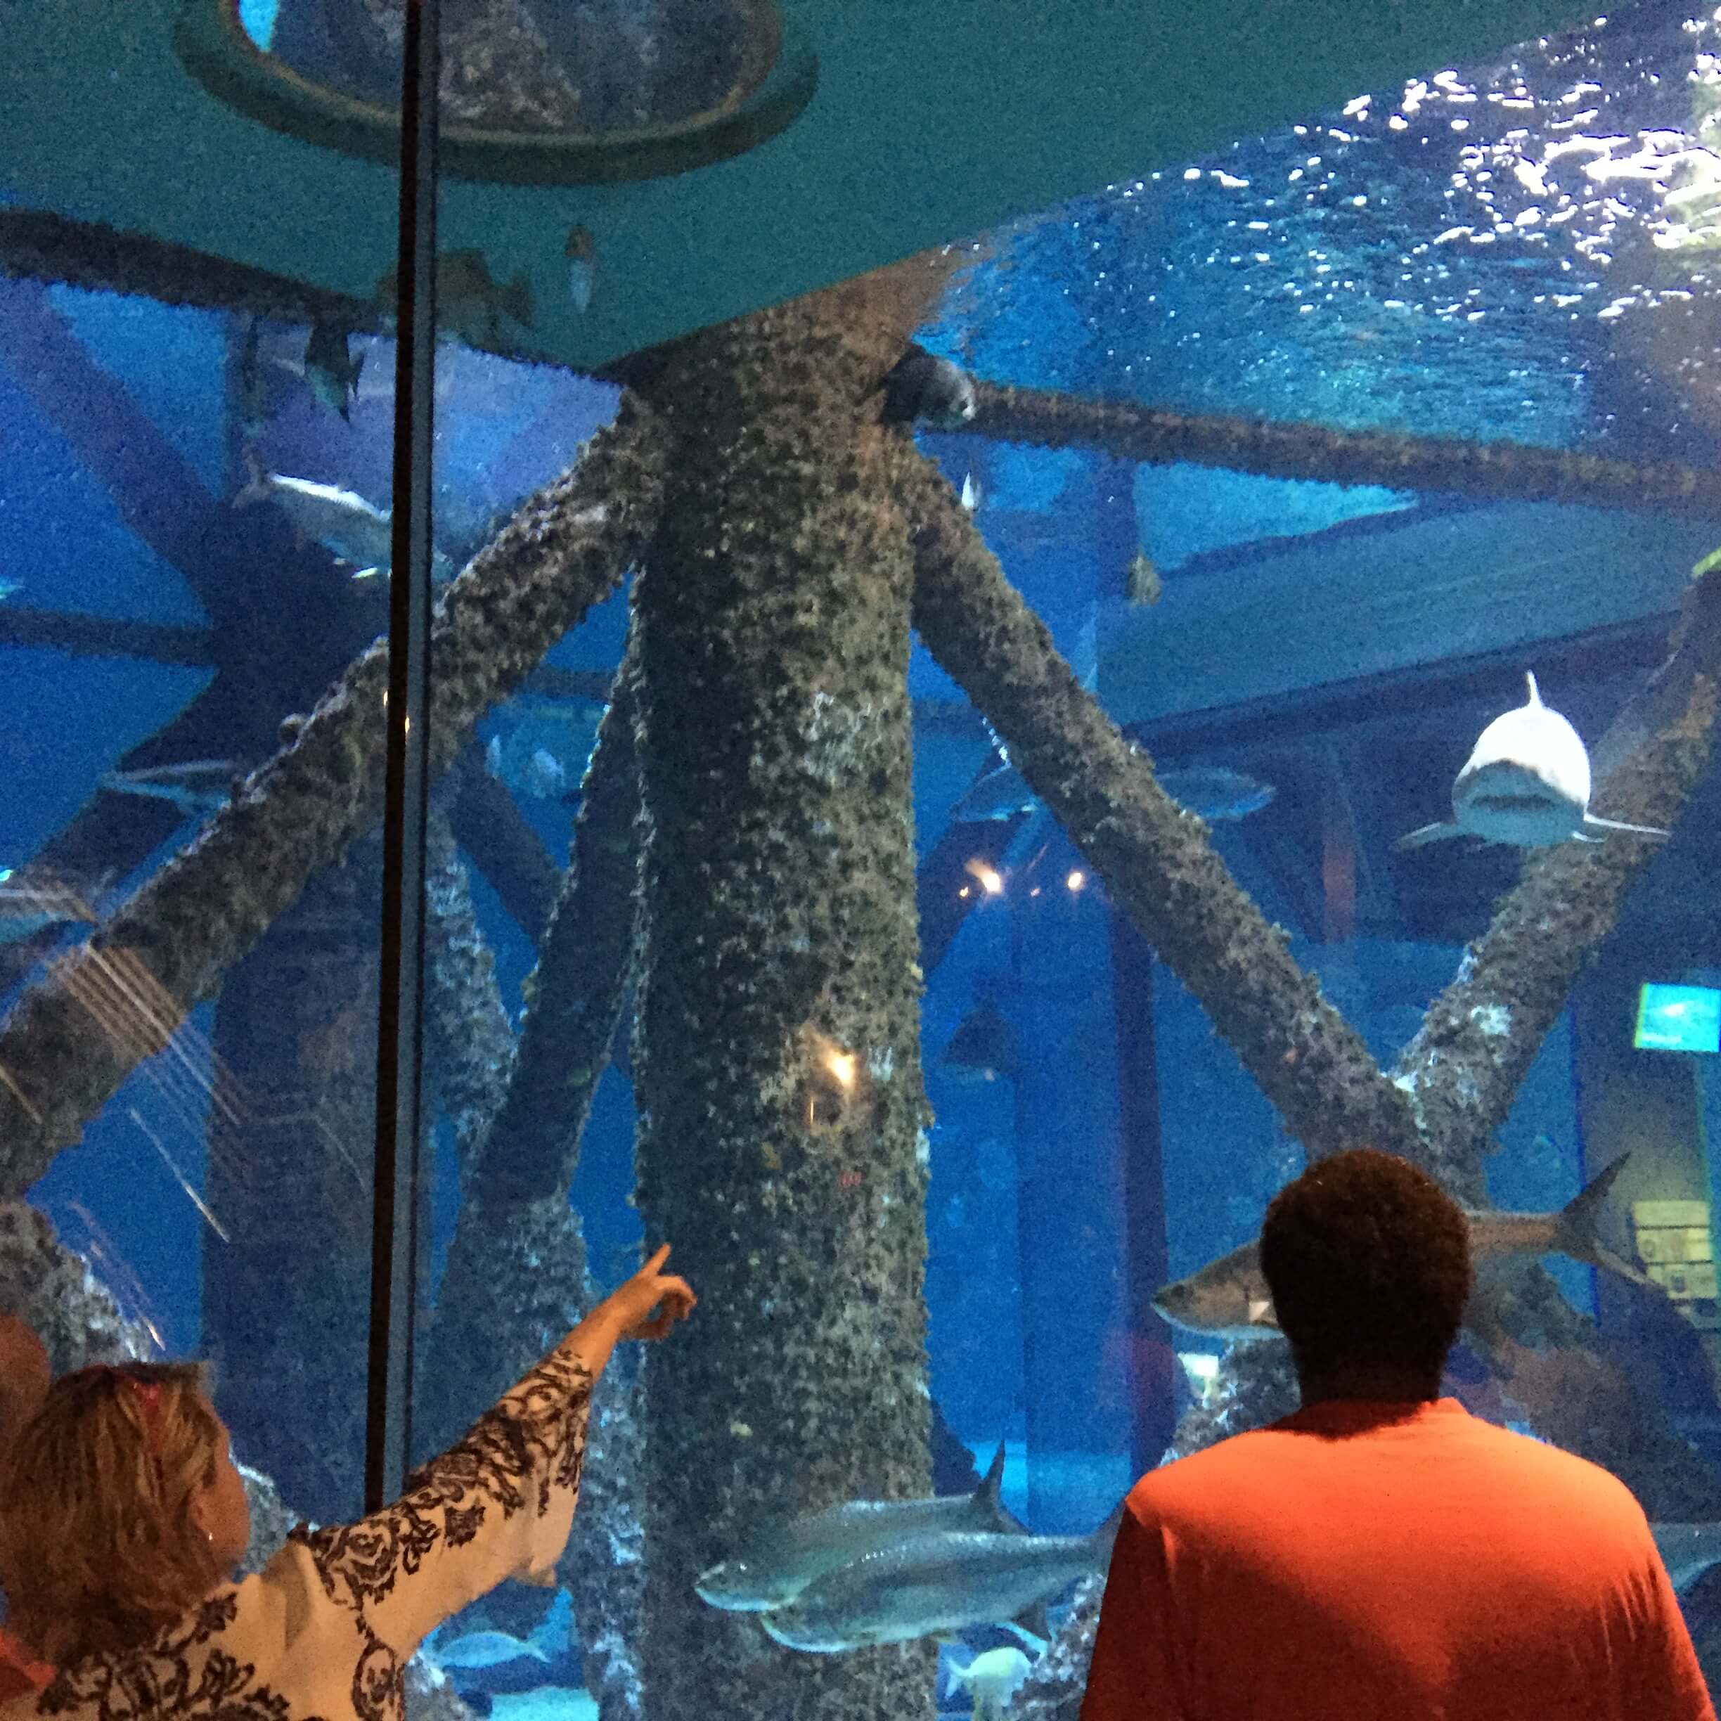
<path fill-rule="evenodd" d="M 188 0 L 176 45 L 224 102 L 394 162 L 408 0 Z M 609 184 L 774 138 L 817 84 L 776 0 L 441 0 L 439 167 Z"/>

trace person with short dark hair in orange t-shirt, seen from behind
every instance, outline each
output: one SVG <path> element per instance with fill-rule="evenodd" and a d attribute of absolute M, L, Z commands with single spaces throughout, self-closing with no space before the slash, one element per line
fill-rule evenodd
<path fill-rule="evenodd" d="M 1136 1484 L 1083 1721 L 1714 1721 L 1637 1501 L 1440 1397 L 1471 1289 L 1440 1187 L 1322 1160 L 1261 1268 L 1303 1408 Z"/>

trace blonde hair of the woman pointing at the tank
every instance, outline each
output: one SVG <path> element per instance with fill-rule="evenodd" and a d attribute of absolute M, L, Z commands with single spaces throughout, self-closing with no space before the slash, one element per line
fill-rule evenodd
<path fill-rule="evenodd" d="M 55 1666 L 148 1642 L 225 1573 L 191 1514 L 222 1425 L 193 1363 L 62 1375 L 0 1456 L 9 1628 Z"/>

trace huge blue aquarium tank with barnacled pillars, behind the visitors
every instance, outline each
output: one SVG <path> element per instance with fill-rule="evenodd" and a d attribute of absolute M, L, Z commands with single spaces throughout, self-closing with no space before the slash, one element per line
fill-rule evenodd
<path fill-rule="evenodd" d="M 48 10 L 0 1313 L 212 1360 L 260 1563 L 669 1241 L 415 1721 L 1072 1718 L 1120 1496 L 1296 1404 L 1179 1287 L 1372 1141 L 1575 1251 L 1446 1391 L 1721 1692 L 1721 12 L 1091 9 L 1036 120 L 1031 7 Z M 757 1549 L 935 1499 L 1005 1576 L 799 1642 Z"/>

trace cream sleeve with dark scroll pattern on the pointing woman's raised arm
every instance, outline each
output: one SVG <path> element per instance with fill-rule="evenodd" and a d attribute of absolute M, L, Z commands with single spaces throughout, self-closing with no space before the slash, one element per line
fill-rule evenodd
<path fill-rule="evenodd" d="M 358 1523 L 294 1532 L 330 1599 L 401 1661 L 504 1578 L 542 1578 L 568 1540 L 592 1373 L 552 1351 L 406 1492 Z"/>

